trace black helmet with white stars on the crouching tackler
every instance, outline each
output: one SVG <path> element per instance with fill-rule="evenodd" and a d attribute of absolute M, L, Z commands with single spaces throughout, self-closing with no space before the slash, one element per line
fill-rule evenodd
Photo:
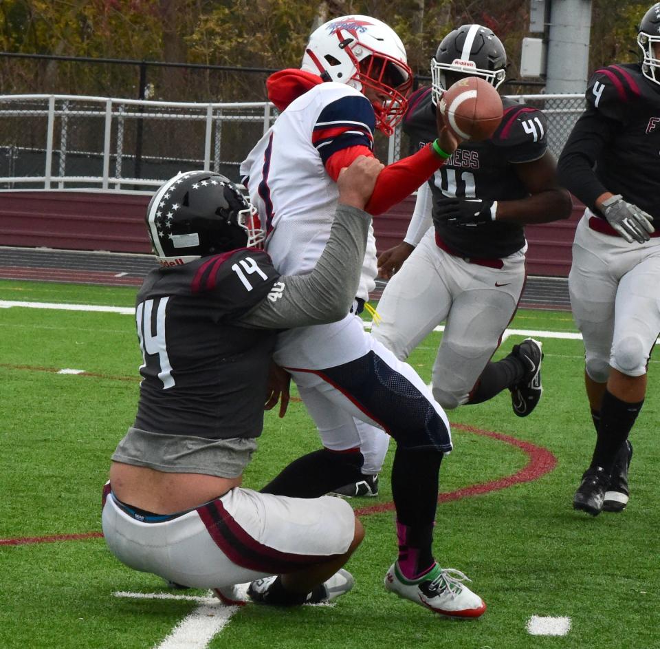
<path fill-rule="evenodd" d="M 162 266 L 237 248 L 261 248 L 256 209 L 234 183 L 212 171 L 179 173 L 162 184 L 146 209 L 146 227 Z"/>

